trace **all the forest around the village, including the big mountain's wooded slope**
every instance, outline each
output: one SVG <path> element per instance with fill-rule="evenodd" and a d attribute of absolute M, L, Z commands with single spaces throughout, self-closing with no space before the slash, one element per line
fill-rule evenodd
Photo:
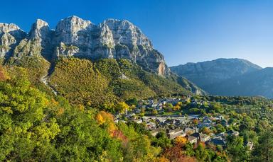
<path fill-rule="evenodd" d="M 227 115 L 230 123 L 239 123 L 230 129 L 239 131 L 240 136 L 229 137 L 226 148 L 202 142 L 193 145 L 184 137 L 168 139 L 165 132 L 151 136 L 145 123 L 116 123 L 112 115 L 134 109 L 135 105 L 129 102 L 132 98 L 156 97 L 155 93 L 170 96 L 176 84 L 164 88 L 165 79 L 134 69 L 137 67 L 123 59 L 102 59 L 92 63 L 71 58 L 63 59 L 55 66 L 50 83 L 58 85 L 59 95 L 54 96 L 38 79 L 46 72 L 43 66 L 25 69 L 22 66 L 26 62 L 33 60 L 22 60 L 16 62 L 17 66 L 1 66 L 0 69 L 0 161 L 273 159 L 272 100 L 194 96 L 212 104 L 179 105 L 181 112 Z M 120 74 L 130 80 L 120 78 Z M 141 79 L 143 75 L 146 77 Z M 152 79 L 160 83 L 149 84 Z M 73 85 L 75 82 L 82 86 Z M 135 86 L 129 86 L 132 84 Z M 215 131 L 219 129 L 225 128 L 216 127 Z M 252 151 L 244 144 L 249 140 L 255 143 Z"/>

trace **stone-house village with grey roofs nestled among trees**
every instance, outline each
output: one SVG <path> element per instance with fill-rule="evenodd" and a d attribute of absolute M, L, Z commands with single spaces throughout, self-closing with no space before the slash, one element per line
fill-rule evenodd
<path fill-rule="evenodd" d="M 154 137 L 159 132 L 166 132 L 169 139 L 185 137 L 191 144 L 203 142 L 225 148 L 228 137 L 240 134 L 230 128 L 237 123 L 229 123 L 220 113 L 208 116 L 202 110 L 196 110 L 209 105 L 208 100 L 198 100 L 191 96 L 141 100 L 134 110 L 126 111 L 122 117 L 115 115 L 115 122 L 137 122 L 144 125 Z M 190 109 L 183 111 L 182 107 Z M 254 145 L 248 141 L 245 146 L 252 150 Z"/>

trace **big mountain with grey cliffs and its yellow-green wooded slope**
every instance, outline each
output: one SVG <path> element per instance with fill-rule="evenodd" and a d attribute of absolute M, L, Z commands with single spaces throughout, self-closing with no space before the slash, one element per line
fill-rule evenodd
<path fill-rule="evenodd" d="M 23 66 L 35 86 L 75 103 L 205 93 L 171 73 L 163 54 L 129 21 L 96 25 L 70 16 L 52 30 L 38 19 L 28 33 L 0 23 L 0 60 Z"/>

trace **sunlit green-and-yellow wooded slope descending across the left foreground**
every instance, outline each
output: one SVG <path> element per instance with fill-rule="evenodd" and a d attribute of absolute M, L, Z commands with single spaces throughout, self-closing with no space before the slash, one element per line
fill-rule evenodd
<path fill-rule="evenodd" d="M 160 149 L 145 134 L 95 108 L 50 98 L 25 69 L 1 68 L 1 161 L 149 161 Z"/>

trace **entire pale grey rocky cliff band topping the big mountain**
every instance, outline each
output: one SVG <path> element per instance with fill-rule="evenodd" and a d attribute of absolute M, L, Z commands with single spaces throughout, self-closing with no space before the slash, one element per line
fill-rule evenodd
<path fill-rule="evenodd" d="M 163 55 L 129 21 L 108 19 L 99 25 L 77 16 L 61 20 L 55 30 L 38 19 L 29 33 L 17 25 L 0 23 L 0 57 L 41 54 L 53 62 L 58 57 L 129 59 L 146 71 L 165 76 L 169 69 Z"/>

